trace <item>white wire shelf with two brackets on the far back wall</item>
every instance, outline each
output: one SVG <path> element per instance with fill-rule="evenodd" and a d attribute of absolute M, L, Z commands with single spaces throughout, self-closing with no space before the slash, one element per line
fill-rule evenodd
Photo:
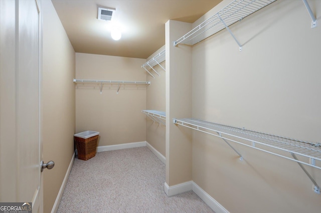
<path fill-rule="evenodd" d="M 150 81 L 133 81 L 133 80 L 93 80 L 93 79 L 75 79 L 74 83 L 95 83 L 100 85 L 100 93 L 102 93 L 103 84 L 118 84 L 117 93 L 121 84 L 137 84 L 137 85 L 149 85 Z"/>

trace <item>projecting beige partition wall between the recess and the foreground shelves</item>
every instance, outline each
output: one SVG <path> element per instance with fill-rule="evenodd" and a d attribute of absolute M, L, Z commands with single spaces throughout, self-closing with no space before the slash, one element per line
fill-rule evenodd
<path fill-rule="evenodd" d="M 173 40 L 191 30 L 192 24 L 169 20 L 166 40 L 166 183 L 192 180 L 192 134 L 173 123 L 175 117 L 192 115 L 192 47 L 173 46 Z"/>

